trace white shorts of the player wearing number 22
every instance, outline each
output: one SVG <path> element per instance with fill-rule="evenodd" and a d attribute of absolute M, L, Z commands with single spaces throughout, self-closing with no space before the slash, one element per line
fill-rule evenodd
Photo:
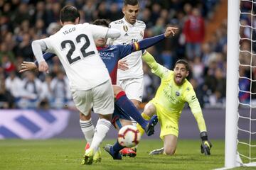
<path fill-rule="evenodd" d="M 108 115 L 114 112 L 114 91 L 110 80 L 87 91 L 72 90 L 73 101 L 78 110 L 88 115 L 94 113 Z"/>

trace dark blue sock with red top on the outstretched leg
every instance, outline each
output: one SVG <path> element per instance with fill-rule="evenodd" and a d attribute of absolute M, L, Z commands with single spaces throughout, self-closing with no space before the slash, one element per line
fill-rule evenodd
<path fill-rule="evenodd" d="M 120 91 L 119 94 L 117 94 L 115 104 L 121 108 L 124 113 L 127 113 L 127 115 L 134 118 L 134 120 L 136 120 L 137 123 L 142 126 L 142 128 L 146 128 L 148 121 L 142 118 L 141 113 L 139 113 L 137 108 L 134 106 L 134 103 L 127 98 L 124 91 Z"/>

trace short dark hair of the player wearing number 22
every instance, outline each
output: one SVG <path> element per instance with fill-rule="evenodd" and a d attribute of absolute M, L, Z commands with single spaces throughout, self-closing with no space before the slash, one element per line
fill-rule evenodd
<path fill-rule="evenodd" d="M 64 6 L 60 11 L 60 21 L 61 22 L 75 22 L 76 18 L 80 18 L 80 13 L 75 6 Z"/>

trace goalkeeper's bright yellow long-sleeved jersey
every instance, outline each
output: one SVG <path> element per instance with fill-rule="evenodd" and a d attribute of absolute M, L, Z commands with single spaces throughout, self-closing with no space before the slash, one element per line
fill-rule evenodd
<path fill-rule="evenodd" d="M 154 60 L 154 57 L 148 52 L 146 55 L 143 55 L 142 58 L 144 62 L 151 67 L 151 72 L 161 78 L 161 84 L 152 101 L 158 103 L 166 111 L 169 111 L 170 116 L 174 118 L 177 123 L 185 103 L 188 102 L 198 123 L 199 130 L 201 132 L 206 131 L 206 124 L 203 119 L 201 106 L 198 102 L 198 98 L 196 98 L 196 93 L 193 90 L 191 83 L 185 79 L 181 86 L 176 85 L 174 81 L 174 71 L 158 64 Z"/>

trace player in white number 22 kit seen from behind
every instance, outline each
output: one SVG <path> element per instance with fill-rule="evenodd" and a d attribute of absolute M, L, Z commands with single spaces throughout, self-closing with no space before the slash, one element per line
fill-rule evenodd
<path fill-rule="evenodd" d="M 97 148 L 110 130 L 110 119 L 114 111 L 112 83 L 97 52 L 94 38 L 117 38 L 120 32 L 89 23 L 78 24 L 79 20 L 77 8 L 64 6 L 60 11 L 63 28 L 48 38 L 33 41 L 32 50 L 41 72 L 48 72 L 42 51 L 55 53 L 70 81 L 75 106 L 88 118 L 91 108 L 99 114 L 95 132 L 89 134 L 93 135 L 90 149 L 85 152 L 85 164 L 92 164 Z"/>

